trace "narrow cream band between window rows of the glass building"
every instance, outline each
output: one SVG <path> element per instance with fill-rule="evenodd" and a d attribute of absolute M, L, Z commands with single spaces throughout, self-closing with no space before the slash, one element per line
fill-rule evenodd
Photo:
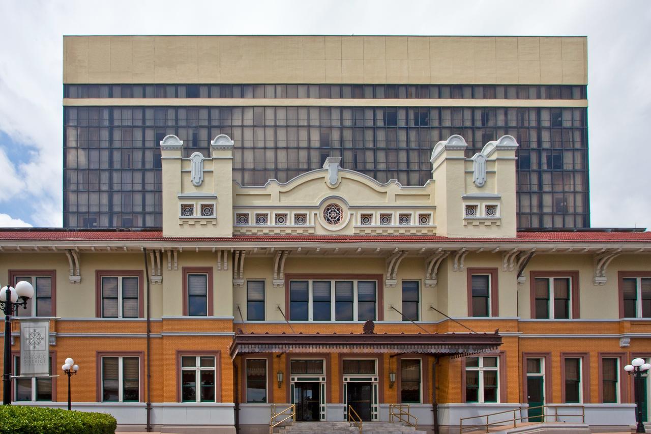
<path fill-rule="evenodd" d="M 588 100 L 453 98 L 63 98 L 64 106 L 587 107 Z"/>

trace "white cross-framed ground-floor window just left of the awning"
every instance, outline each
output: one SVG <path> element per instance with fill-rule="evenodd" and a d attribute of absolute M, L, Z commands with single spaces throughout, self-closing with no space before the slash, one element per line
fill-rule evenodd
<path fill-rule="evenodd" d="M 181 357 L 181 400 L 215 402 L 215 357 Z"/>

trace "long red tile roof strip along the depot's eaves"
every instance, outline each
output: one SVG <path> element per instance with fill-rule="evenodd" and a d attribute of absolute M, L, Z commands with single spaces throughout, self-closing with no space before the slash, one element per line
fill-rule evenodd
<path fill-rule="evenodd" d="M 0 240 L 31 241 L 193 241 L 193 242 L 651 242 L 651 232 L 540 231 L 515 238 L 459 238 L 437 235 L 234 235 L 233 237 L 163 237 L 156 231 L 70 231 L 0 229 Z"/>

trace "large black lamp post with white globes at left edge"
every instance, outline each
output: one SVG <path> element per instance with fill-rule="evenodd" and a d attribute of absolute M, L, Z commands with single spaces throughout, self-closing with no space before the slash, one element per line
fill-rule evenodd
<path fill-rule="evenodd" d="M 0 308 L 5 313 L 5 372 L 3 373 L 3 404 L 11 403 L 11 315 L 14 315 L 20 306 L 27 309 L 27 300 L 34 297 L 34 287 L 29 282 L 21 280 L 16 283 L 16 288 L 5 286 L 0 289 Z M 20 302 L 18 301 L 20 298 Z"/>

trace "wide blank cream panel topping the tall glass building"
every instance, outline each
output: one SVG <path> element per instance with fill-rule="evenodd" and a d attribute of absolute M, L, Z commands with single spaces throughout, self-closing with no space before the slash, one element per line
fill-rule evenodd
<path fill-rule="evenodd" d="M 587 84 L 585 36 L 64 36 L 64 83 Z"/>

